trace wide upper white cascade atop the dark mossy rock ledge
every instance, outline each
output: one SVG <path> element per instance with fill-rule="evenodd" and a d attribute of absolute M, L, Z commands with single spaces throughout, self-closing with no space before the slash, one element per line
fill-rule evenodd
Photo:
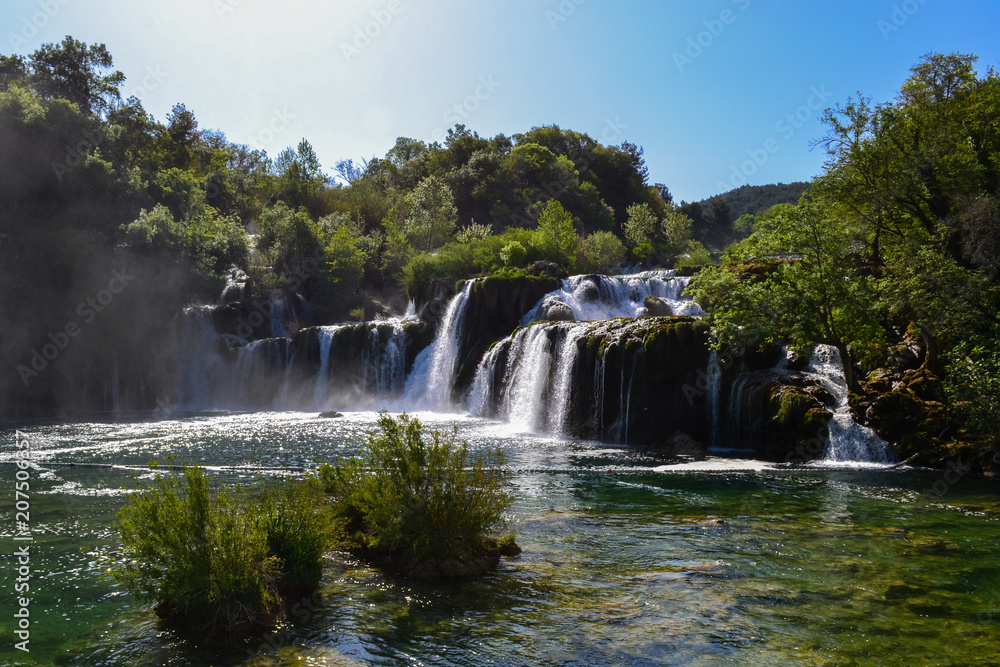
<path fill-rule="evenodd" d="M 690 278 L 679 278 L 673 271 L 649 271 L 624 276 L 582 275 L 562 281 L 562 287 L 545 295 L 524 317 L 524 323 L 547 319 L 582 321 L 619 317 L 644 317 L 649 313 L 645 300 L 656 297 L 674 315 L 700 317 L 704 312 L 694 301 L 685 298 Z M 554 317 L 560 312 L 563 317 Z"/>

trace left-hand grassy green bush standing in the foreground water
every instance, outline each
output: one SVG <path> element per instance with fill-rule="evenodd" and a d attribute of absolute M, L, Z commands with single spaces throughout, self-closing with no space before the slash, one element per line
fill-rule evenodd
<path fill-rule="evenodd" d="M 246 491 L 210 489 L 197 466 L 159 475 L 133 495 L 116 527 L 124 558 L 111 576 L 158 616 L 209 636 L 263 631 L 283 615 L 283 595 L 319 583 L 328 541 L 313 481 Z"/>

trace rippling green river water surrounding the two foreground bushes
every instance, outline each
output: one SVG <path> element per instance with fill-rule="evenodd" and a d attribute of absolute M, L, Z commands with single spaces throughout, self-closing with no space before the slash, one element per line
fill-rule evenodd
<path fill-rule="evenodd" d="M 331 554 L 321 590 L 245 647 L 197 646 L 104 577 L 126 494 L 176 455 L 224 483 L 350 455 L 374 413 L 34 425 L 31 652 L 13 649 L 14 434 L 0 434 L 2 664 L 995 665 L 1000 493 L 944 472 L 679 461 L 458 422 L 516 471 L 524 553 L 477 581 Z M 70 467 L 69 464 L 75 464 Z M 264 474 L 281 474 L 277 470 Z"/>

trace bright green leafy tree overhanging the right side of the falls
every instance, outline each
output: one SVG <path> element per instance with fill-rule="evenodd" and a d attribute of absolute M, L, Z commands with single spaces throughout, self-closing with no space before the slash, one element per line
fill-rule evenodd
<path fill-rule="evenodd" d="M 727 252 L 724 266 L 695 276 L 691 293 L 723 342 L 832 345 L 857 391 L 859 361 L 882 358 L 884 330 L 873 307 L 876 283 L 854 270 L 855 230 L 808 197 L 758 227 Z"/>

